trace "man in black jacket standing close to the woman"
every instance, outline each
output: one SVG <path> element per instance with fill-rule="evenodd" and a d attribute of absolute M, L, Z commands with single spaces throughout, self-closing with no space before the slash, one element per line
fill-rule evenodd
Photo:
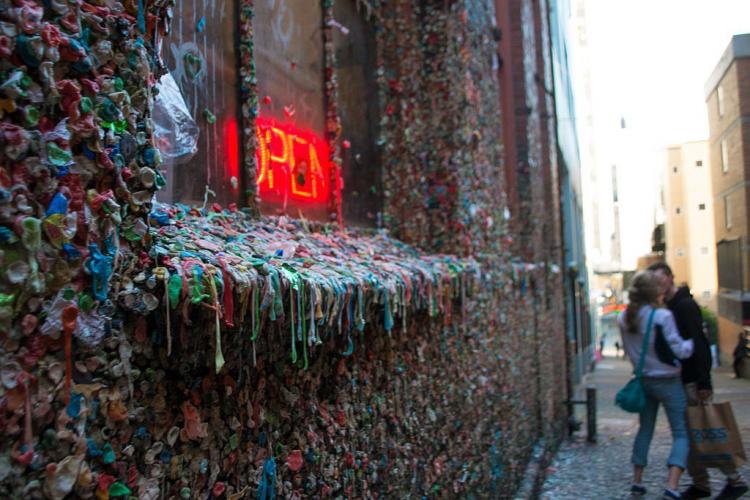
<path fill-rule="evenodd" d="M 665 262 L 657 262 L 649 267 L 659 277 L 664 293 L 664 301 L 672 311 L 677 328 L 685 339 L 693 339 L 693 355 L 682 362 L 682 383 L 689 405 L 709 402 L 713 397 L 711 385 L 711 348 L 703 334 L 703 318 L 700 307 L 686 286 L 677 288 L 674 284 L 672 269 Z M 717 496 L 717 500 L 740 498 L 748 491 L 747 484 L 737 469 L 726 468 L 722 472 L 727 477 L 727 484 Z M 706 498 L 711 496 L 711 483 L 705 467 L 688 461 L 688 474 L 693 484 L 682 493 L 682 498 Z"/>

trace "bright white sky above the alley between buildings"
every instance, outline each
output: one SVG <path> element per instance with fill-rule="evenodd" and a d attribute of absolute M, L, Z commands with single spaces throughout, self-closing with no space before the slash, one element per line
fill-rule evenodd
<path fill-rule="evenodd" d="M 586 223 L 589 232 L 600 228 L 603 255 L 589 252 L 594 253 L 589 258 L 595 266 L 610 255 L 614 223 L 609 186 L 616 165 L 622 267 L 634 269 L 638 256 L 650 251 L 666 148 L 708 138 L 704 84 L 732 35 L 750 33 L 750 0 L 571 3 L 570 58 L 587 177 L 584 197 L 601 197 L 598 224 L 591 213 Z M 585 7 L 585 24 L 575 18 L 579 4 Z M 587 48 L 575 46 L 581 30 Z M 587 239 L 591 243 L 592 236 Z"/>

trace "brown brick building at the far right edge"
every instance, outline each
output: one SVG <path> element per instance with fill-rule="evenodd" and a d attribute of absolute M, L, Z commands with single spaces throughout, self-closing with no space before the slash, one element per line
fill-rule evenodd
<path fill-rule="evenodd" d="M 731 356 L 750 325 L 750 34 L 735 35 L 705 86 L 718 269 L 719 343 Z"/>

